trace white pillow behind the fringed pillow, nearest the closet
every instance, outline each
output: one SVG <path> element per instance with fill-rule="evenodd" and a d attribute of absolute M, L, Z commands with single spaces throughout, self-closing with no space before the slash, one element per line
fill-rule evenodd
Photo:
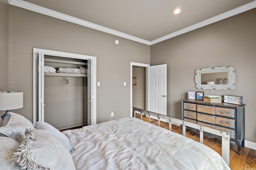
<path fill-rule="evenodd" d="M 72 146 L 70 144 L 70 141 L 66 135 L 64 135 L 62 132 L 60 132 L 58 129 L 50 125 L 49 123 L 38 121 L 36 122 L 36 129 L 42 129 L 47 131 L 52 136 L 56 137 L 68 149 L 68 151 L 72 152 L 74 149 L 72 149 Z"/>

